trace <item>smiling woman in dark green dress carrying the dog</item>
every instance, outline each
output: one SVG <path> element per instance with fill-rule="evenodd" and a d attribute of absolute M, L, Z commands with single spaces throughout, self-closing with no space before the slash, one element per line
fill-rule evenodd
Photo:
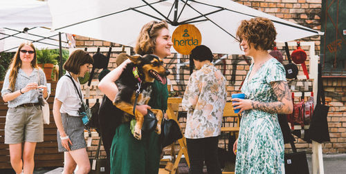
<path fill-rule="evenodd" d="M 140 30 L 135 52 L 139 55 L 153 54 L 163 59 L 171 55 L 170 48 L 172 44 L 167 22 L 151 21 L 146 23 Z M 118 93 L 114 81 L 120 77 L 122 70 L 129 62 L 131 61 L 125 61 L 100 81 L 98 87 L 112 101 Z M 146 115 L 147 109 L 150 108 L 167 109 L 167 86 L 156 84 L 156 82 L 153 84 L 153 93 L 156 96 L 152 96 L 149 101 L 152 107 L 147 105 L 136 106 L 136 110 L 143 115 Z M 159 90 L 164 93 L 158 93 Z M 161 102 L 161 104 L 158 104 L 158 102 Z M 142 139 L 138 141 L 131 134 L 129 122 L 125 122 L 116 128 L 116 135 L 113 137 L 111 173 L 156 174 L 159 168 L 160 151 L 161 144 L 159 143 L 159 135 L 156 132 L 143 133 Z"/>

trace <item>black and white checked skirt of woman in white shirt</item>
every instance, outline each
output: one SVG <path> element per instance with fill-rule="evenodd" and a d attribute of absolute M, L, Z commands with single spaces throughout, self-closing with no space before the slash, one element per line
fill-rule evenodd
<path fill-rule="evenodd" d="M 86 148 L 82 117 L 71 116 L 67 113 L 62 113 L 61 115 L 64 131 L 66 135 L 69 135 L 69 138 L 72 142 L 72 145 L 69 144 L 71 151 L 75 151 L 80 148 Z M 62 146 L 59 131 L 57 131 L 57 148 L 59 152 L 67 152 L 66 148 Z"/>

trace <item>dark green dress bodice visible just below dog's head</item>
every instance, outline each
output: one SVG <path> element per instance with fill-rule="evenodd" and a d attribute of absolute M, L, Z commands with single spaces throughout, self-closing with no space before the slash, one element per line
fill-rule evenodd
<path fill-rule="evenodd" d="M 152 108 L 167 110 L 168 90 L 167 83 L 161 84 L 160 81 L 154 80 L 152 84 L 152 96 L 148 105 Z"/>

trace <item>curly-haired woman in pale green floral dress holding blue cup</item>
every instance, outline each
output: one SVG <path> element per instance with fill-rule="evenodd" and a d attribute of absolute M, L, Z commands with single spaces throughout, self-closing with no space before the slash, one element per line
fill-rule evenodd
<path fill-rule="evenodd" d="M 253 57 L 242 86 L 246 99 L 232 99 L 234 109 L 244 110 L 239 137 L 236 173 L 284 173 L 284 139 L 277 114 L 293 111 L 291 92 L 282 64 L 269 55 L 274 46 L 275 27 L 269 19 L 244 20 L 237 38 L 246 56 Z"/>

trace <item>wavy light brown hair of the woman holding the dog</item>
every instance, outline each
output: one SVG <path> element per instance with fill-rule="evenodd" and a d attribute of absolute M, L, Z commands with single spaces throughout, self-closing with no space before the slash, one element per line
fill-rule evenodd
<path fill-rule="evenodd" d="M 167 21 L 150 21 L 145 23 L 140 30 L 134 51 L 138 55 L 153 54 L 156 46 L 158 31 L 162 28 L 168 29 Z"/>

